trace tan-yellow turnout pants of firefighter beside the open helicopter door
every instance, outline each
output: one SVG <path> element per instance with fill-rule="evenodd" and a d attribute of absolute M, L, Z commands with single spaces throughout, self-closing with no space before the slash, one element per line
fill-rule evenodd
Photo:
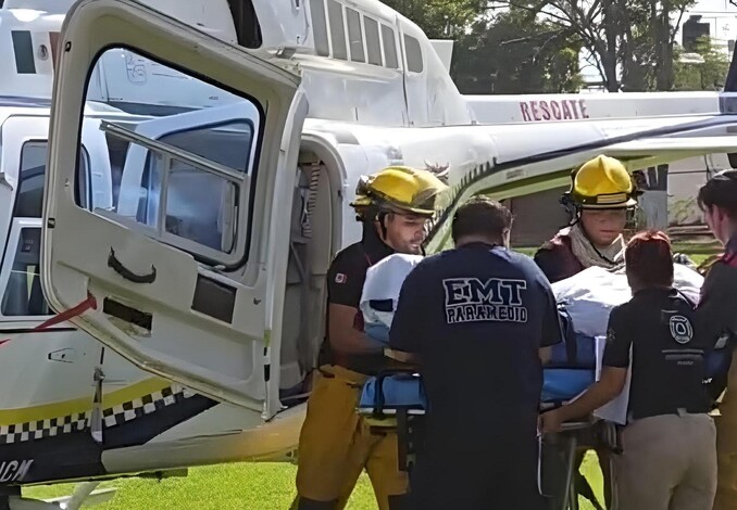
<path fill-rule="evenodd" d="M 379 510 L 409 508 L 396 431 L 376 432 L 355 411 L 366 379 L 335 365 L 316 371 L 299 439 L 298 510 L 342 510 L 364 469 Z"/>

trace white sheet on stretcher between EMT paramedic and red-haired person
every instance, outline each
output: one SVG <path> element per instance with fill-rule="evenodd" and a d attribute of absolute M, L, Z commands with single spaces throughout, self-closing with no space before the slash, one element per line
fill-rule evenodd
<path fill-rule="evenodd" d="M 698 303 L 703 277 L 680 264 L 675 264 L 674 267 L 674 286 L 691 302 Z M 577 333 L 592 336 L 596 341 L 596 380 L 598 381 L 601 378 L 607 344 L 609 313 L 614 306 L 626 303 L 632 297 L 627 277 L 623 271 L 613 273 L 602 268 L 591 267 L 553 283 L 552 288 L 557 299 L 566 303 L 566 310 L 573 319 L 574 330 Z M 632 348 L 629 368 L 632 369 Z M 630 375 L 632 371 L 627 370 L 625 385 L 620 396 L 594 411 L 595 417 L 619 424 L 627 423 Z"/>

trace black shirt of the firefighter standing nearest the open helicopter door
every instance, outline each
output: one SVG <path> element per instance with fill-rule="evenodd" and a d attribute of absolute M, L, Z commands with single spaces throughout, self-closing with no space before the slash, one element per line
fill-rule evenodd
<path fill-rule="evenodd" d="M 327 270 L 327 303 L 350 306 L 357 309 L 353 327 L 363 331 L 363 315 L 359 310 L 363 282 L 366 279 L 368 267 L 391 255 L 394 250 L 384 244 L 373 225 L 363 229 L 363 239 L 340 251 Z M 327 342 L 323 344 L 323 362 L 340 365 L 341 367 L 365 374 L 375 374 L 384 367 L 388 359 L 383 353 L 367 355 L 346 355 L 337 353 L 329 343 L 329 308 L 327 311 Z"/>

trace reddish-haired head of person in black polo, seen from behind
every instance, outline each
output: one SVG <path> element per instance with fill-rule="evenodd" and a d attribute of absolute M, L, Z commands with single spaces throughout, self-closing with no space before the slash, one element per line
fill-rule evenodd
<path fill-rule="evenodd" d="M 671 240 L 661 231 L 636 233 L 627 243 L 624 260 L 633 292 L 673 284 Z"/>

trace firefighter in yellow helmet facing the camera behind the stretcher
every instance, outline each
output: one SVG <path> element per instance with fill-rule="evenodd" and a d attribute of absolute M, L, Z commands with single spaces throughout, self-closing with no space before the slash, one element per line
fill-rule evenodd
<path fill-rule="evenodd" d="M 624 265 L 623 232 L 628 215 L 637 207 L 640 190 L 625 166 L 613 157 L 599 155 L 571 174 L 571 188 L 561 197 L 561 204 L 571 215 L 570 225 L 540 246 L 535 262 L 551 283 L 570 278 L 592 266 L 608 269 Z M 576 458 L 576 467 L 584 460 L 585 450 Z M 608 450 L 597 448 L 602 473 L 609 475 Z M 542 489 L 557 505 L 562 498 L 562 482 L 558 477 L 560 452 L 552 444 L 542 447 Z M 590 484 L 582 474 L 576 479 L 577 492 L 596 508 Z M 604 499 L 609 507 L 611 487 L 604 484 Z"/>

